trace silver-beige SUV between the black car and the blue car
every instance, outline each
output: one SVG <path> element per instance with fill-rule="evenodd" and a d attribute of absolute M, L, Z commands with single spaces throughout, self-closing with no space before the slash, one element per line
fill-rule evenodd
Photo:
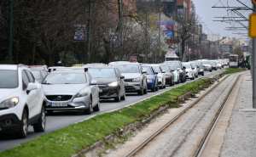
<path fill-rule="evenodd" d="M 143 71 L 141 64 L 131 62 L 111 62 L 109 65 L 117 67 L 125 76 L 125 92 L 143 95 L 148 93 L 147 71 Z"/>

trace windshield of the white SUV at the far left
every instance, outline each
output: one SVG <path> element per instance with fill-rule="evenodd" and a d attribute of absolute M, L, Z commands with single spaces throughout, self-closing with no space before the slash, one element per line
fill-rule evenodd
<path fill-rule="evenodd" d="M 0 88 L 18 87 L 18 73 L 16 70 L 0 70 Z"/>

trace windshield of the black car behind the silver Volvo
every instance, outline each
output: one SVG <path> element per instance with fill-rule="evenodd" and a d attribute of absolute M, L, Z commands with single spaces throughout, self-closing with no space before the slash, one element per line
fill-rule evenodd
<path fill-rule="evenodd" d="M 93 78 L 116 78 L 114 69 L 88 69 L 90 76 Z"/>

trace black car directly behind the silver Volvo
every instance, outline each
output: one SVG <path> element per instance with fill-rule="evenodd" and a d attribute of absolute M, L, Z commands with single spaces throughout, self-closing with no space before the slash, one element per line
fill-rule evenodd
<path fill-rule="evenodd" d="M 95 66 L 88 69 L 90 76 L 97 81 L 102 90 L 101 99 L 114 98 L 119 102 L 125 100 L 125 76 L 121 76 L 119 70 L 110 66 Z"/>

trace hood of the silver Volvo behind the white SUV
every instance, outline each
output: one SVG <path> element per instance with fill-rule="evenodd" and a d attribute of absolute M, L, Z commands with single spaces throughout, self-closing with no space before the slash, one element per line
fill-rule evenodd
<path fill-rule="evenodd" d="M 55 84 L 44 85 L 44 93 L 79 93 L 86 84 Z"/>

